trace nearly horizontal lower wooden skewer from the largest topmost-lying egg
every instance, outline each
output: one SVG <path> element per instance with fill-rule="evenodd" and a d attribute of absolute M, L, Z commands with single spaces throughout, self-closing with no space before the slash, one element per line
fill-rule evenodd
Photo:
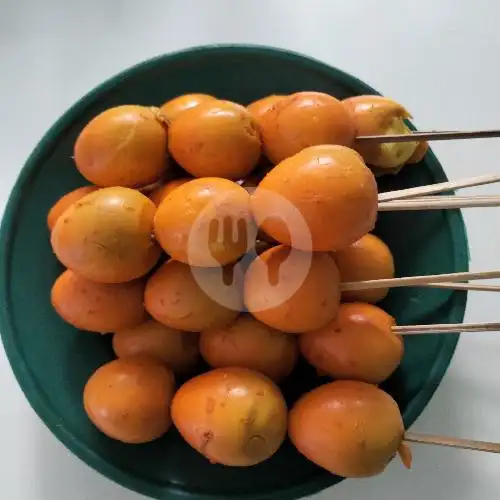
<path fill-rule="evenodd" d="M 424 197 L 425 198 L 425 197 Z M 399 212 L 402 210 L 450 210 L 459 208 L 479 208 L 479 207 L 498 207 L 500 206 L 500 196 L 493 196 L 491 198 L 466 198 L 455 199 L 454 196 L 443 196 L 444 200 L 430 200 L 420 199 L 414 200 L 400 200 L 400 201 L 386 201 L 379 203 L 379 212 Z"/>

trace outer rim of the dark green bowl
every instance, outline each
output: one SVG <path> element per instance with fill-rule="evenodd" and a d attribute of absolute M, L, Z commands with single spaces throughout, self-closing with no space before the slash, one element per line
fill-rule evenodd
<path fill-rule="evenodd" d="M 379 92 L 358 78 L 318 59 L 299 52 L 267 45 L 232 43 L 198 45 L 146 59 L 114 74 L 99 85 L 95 86 L 78 99 L 71 107 L 69 107 L 42 136 L 24 163 L 24 166 L 21 168 L 5 206 L 0 226 L 0 302 L 5 306 L 0 314 L 0 336 L 2 338 L 4 349 L 14 376 L 17 379 L 17 382 L 26 396 L 30 406 L 34 409 L 43 423 L 50 429 L 52 434 L 54 434 L 54 436 L 59 439 L 59 441 L 61 441 L 69 451 L 75 454 L 88 466 L 121 486 L 157 499 L 184 498 L 189 500 L 220 500 L 221 498 L 229 498 L 230 495 L 202 494 L 193 491 L 187 492 L 186 490 L 178 488 L 172 484 L 165 487 L 159 484 L 150 483 L 140 477 L 130 476 L 92 451 L 92 449 L 80 442 L 80 440 L 68 429 L 66 429 L 64 425 L 61 425 L 58 414 L 51 407 L 50 403 L 44 398 L 44 391 L 35 380 L 35 377 L 23 358 L 22 349 L 16 342 L 16 332 L 11 317 L 12 309 L 10 307 L 9 264 L 11 242 L 15 232 L 17 208 L 22 199 L 24 187 L 30 182 L 30 179 L 35 173 L 36 165 L 43 156 L 44 151 L 51 149 L 52 145 L 57 142 L 59 135 L 73 123 L 75 116 L 81 114 L 89 106 L 92 106 L 99 100 L 102 93 L 109 92 L 115 86 L 121 84 L 124 79 L 139 72 L 152 69 L 159 63 L 167 60 L 175 61 L 183 59 L 186 56 L 199 56 L 213 53 L 223 54 L 224 52 L 228 55 L 234 55 L 235 53 L 253 53 L 263 56 L 272 56 L 276 59 L 293 60 L 300 63 L 305 68 L 327 74 L 330 78 L 334 72 L 337 80 L 340 79 L 340 81 L 345 81 L 346 83 L 349 82 L 351 85 L 355 84 L 359 88 L 364 89 L 364 92 L 366 93 L 380 95 Z M 432 152 L 430 153 L 429 167 L 433 175 L 440 178 L 444 177 L 443 180 L 446 179 L 446 175 L 444 174 L 439 161 Z M 467 271 L 469 269 L 469 254 L 466 227 L 461 212 L 456 211 L 455 213 L 455 222 L 448 222 L 451 237 L 454 243 L 453 265 L 455 269 Z M 466 302 L 466 293 L 461 294 L 460 299 L 455 301 L 450 312 L 450 316 L 453 321 L 463 321 Z M 433 369 L 428 374 L 426 386 L 413 397 L 403 414 L 406 428 L 413 424 L 434 395 L 451 362 L 458 339 L 458 336 L 450 335 L 445 336 L 442 340 L 439 356 L 436 358 L 437 361 L 434 363 Z M 239 496 L 239 498 L 242 500 L 285 500 L 300 498 L 332 486 L 335 484 L 332 477 L 333 476 L 330 476 L 329 474 L 318 475 L 312 481 L 300 485 L 294 485 L 287 489 L 274 489 L 262 495 L 256 495 L 253 493 L 243 494 Z"/>

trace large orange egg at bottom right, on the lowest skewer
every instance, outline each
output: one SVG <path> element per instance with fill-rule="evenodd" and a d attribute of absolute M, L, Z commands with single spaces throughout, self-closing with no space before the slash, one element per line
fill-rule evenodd
<path fill-rule="evenodd" d="M 337 381 L 303 395 L 290 410 L 298 451 L 332 474 L 381 474 L 403 446 L 404 427 L 389 394 L 364 382 Z"/>

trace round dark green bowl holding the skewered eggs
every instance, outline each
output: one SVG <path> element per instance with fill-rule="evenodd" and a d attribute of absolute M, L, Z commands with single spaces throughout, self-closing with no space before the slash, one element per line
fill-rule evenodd
<path fill-rule="evenodd" d="M 118 104 L 159 105 L 188 92 L 206 92 L 243 104 L 268 94 L 317 90 L 340 98 L 376 93 L 361 81 L 299 54 L 258 46 L 199 47 L 149 60 L 106 81 L 74 105 L 47 132 L 21 171 L 1 227 L 1 334 L 17 380 L 57 438 L 105 476 L 159 499 L 291 499 L 327 488 L 341 478 L 319 469 L 289 442 L 269 461 L 251 468 L 210 465 L 175 430 L 147 445 L 114 442 L 87 419 L 82 390 L 90 374 L 112 359 L 109 339 L 65 324 L 50 305 L 61 272 L 50 245 L 46 214 L 55 200 L 84 184 L 71 158 L 88 120 Z M 380 189 L 446 180 L 432 153 Z M 327 228 L 325 228 L 327 229 Z M 450 273 L 468 268 L 467 239 L 458 211 L 382 213 L 377 233 L 389 244 L 399 276 Z M 400 288 L 383 307 L 399 324 L 461 322 L 466 294 Z M 406 354 L 386 389 L 407 426 L 439 385 L 457 343 L 455 335 L 407 339 Z M 283 391 L 291 403 L 324 380 L 306 365 Z"/>

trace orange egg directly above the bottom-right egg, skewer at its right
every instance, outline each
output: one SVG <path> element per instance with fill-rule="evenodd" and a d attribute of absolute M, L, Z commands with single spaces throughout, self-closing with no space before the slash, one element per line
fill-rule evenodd
<path fill-rule="evenodd" d="M 301 335 L 300 352 L 322 374 L 380 384 L 403 358 L 403 341 L 392 316 L 371 304 L 341 304 L 324 328 Z"/>

